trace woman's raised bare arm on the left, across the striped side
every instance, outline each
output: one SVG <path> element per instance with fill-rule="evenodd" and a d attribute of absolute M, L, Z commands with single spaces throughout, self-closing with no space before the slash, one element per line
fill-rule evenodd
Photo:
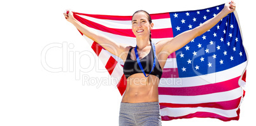
<path fill-rule="evenodd" d="M 99 45 L 103 46 L 103 48 L 108 50 L 108 52 L 112 53 L 113 55 L 116 55 L 117 57 L 120 57 L 123 60 L 126 59 L 126 55 L 123 54 L 124 52 L 128 52 L 130 48 L 129 46 L 116 43 L 107 36 L 99 34 L 94 29 L 88 27 L 87 25 L 82 24 L 81 22 L 78 22 L 78 20 L 76 20 L 73 17 L 73 13 L 71 11 L 68 12 L 69 13 L 63 13 L 64 17 L 66 18 L 66 20 L 68 20 L 68 22 L 71 22 L 71 24 L 75 25 L 76 29 L 85 34 L 85 36 L 87 36 L 88 38 L 99 43 Z"/>

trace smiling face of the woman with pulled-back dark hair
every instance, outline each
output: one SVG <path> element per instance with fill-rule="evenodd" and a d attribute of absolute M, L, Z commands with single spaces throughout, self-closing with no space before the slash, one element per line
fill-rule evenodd
<path fill-rule="evenodd" d="M 149 37 L 153 23 L 150 24 L 146 13 L 139 12 L 132 17 L 132 32 L 137 37 Z"/>

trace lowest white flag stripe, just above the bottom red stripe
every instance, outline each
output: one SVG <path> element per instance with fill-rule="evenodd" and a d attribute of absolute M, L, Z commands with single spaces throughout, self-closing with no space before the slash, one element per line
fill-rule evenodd
<path fill-rule="evenodd" d="M 227 118 L 232 118 L 238 116 L 236 109 L 231 109 L 231 110 L 224 110 L 224 109 L 218 109 L 218 108 L 202 108 L 202 107 L 197 107 L 197 108 L 163 108 L 160 109 L 160 115 L 161 116 L 173 116 L 173 117 L 178 117 L 178 116 L 185 116 L 189 115 L 191 113 L 196 113 L 196 112 L 208 112 L 208 113 L 215 113 L 220 116 L 225 116 Z"/>

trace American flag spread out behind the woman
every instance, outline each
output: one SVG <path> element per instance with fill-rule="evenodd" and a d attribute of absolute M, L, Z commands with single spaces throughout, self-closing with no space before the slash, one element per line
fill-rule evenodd
<path fill-rule="evenodd" d="M 152 41 L 173 38 L 215 17 L 224 4 L 204 10 L 152 14 Z M 74 17 L 118 43 L 136 46 L 131 16 L 91 15 L 73 12 Z M 169 55 L 159 83 L 162 120 L 218 118 L 239 120 L 245 91 L 247 56 L 236 14 L 230 13 L 217 25 Z M 82 34 L 82 33 L 81 33 Z M 83 34 L 82 34 L 83 35 Z M 108 73 L 117 78 L 124 94 L 124 62 L 83 35 Z"/>

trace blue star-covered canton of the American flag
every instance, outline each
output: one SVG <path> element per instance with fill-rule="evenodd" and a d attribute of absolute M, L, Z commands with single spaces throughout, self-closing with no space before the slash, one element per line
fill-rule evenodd
<path fill-rule="evenodd" d="M 206 10 L 170 13 L 173 36 L 203 24 L 223 8 L 224 4 Z M 177 50 L 176 60 L 181 78 L 216 73 L 245 62 L 245 49 L 234 13 Z"/>

